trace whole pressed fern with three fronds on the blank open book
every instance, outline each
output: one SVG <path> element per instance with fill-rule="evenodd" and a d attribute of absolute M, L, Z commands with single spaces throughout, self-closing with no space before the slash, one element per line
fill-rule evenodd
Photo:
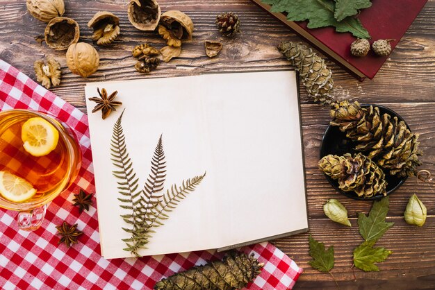
<path fill-rule="evenodd" d="M 117 199 L 122 203 L 120 205 L 122 209 L 129 210 L 129 214 L 121 215 L 124 222 L 131 225 L 131 228 L 122 228 L 131 234 L 131 237 L 122 239 L 126 243 L 124 250 L 140 257 L 138 250 L 146 248 L 151 234 L 154 233 L 153 228 L 163 225 L 163 221 L 169 218 L 168 213 L 172 212 L 187 194 L 195 190 L 206 174 L 191 180 L 183 180 L 181 186 L 172 185 L 165 194 L 159 194 L 163 191 L 166 178 L 165 153 L 161 136 L 151 159 L 151 173 L 144 188 L 138 190 L 139 178 L 136 177 L 133 162 L 127 152 L 122 129 L 123 114 L 124 111 L 113 126 L 110 142 L 111 160 L 117 168 L 113 171 L 113 176 L 120 180 L 117 181 L 117 189 L 122 197 Z"/>

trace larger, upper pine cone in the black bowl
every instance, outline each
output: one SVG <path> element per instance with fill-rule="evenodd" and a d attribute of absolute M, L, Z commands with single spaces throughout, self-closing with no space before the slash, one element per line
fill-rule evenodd
<path fill-rule="evenodd" d="M 361 108 L 358 102 L 348 101 L 331 104 L 331 117 L 331 125 L 357 142 L 355 149 L 368 153 L 379 167 L 400 177 L 416 175 L 422 151 L 418 134 L 411 133 L 404 121 L 380 114 L 377 107 Z"/>

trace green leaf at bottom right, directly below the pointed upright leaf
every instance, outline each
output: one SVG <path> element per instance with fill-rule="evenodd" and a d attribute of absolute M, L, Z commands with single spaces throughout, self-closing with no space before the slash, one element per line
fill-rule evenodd
<path fill-rule="evenodd" d="M 354 265 L 363 271 L 379 271 L 375 265 L 378 262 L 384 262 L 386 258 L 393 252 L 385 248 L 373 248 L 375 241 L 364 241 L 354 250 Z"/>

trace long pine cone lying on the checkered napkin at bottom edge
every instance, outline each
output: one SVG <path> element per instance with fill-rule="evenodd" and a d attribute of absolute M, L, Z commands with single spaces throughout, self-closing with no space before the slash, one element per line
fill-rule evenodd
<path fill-rule="evenodd" d="M 263 263 L 244 253 L 230 253 L 223 261 L 196 266 L 156 283 L 156 290 L 242 289 L 261 272 Z"/>

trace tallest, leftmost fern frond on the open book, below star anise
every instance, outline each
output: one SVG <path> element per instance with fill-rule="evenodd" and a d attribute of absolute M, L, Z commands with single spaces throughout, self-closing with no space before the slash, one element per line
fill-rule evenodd
<path fill-rule="evenodd" d="M 126 243 L 127 248 L 124 250 L 129 250 L 133 255 L 138 255 L 138 249 L 142 248 L 147 244 L 149 235 L 147 230 L 143 230 L 143 225 L 145 223 L 145 216 L 142 214 L 141 210 L 141 191 L 138 190 L 139 178 L 136 177 L 136 173 L 133 169 L 133 162 L 127 153 L 125 136 L 122 129 L 122 114 L 115 122 L 113 126 L 112 140 L 110 142 L 110 151 L 112 155 L 112 163 L 116 167 L 113 172 L 113 176 L 118 178 L 117 189 L 122 197 L 117 198 L 122 204 L 124 210 L 129 210 L 130 214 L 121 215 L 122 219 L 132 228 L 123 228 L 126 232 L 131 234 L 131 238 L 123 239 Z"/>

